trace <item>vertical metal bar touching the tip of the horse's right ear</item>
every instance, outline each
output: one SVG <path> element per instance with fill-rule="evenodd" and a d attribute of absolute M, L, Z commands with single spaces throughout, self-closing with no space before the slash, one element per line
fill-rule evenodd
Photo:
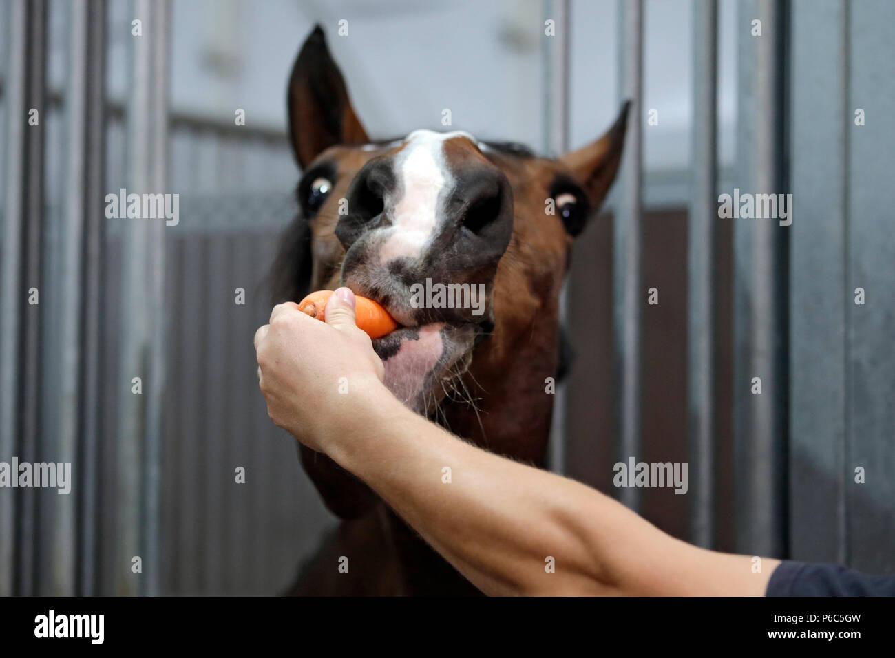
<path fill-rule="evenodd" d="M 631 100 L 627 124 L 626 154 L 621 163 L 620 195 L 613 236 L 613 320 L 615 325 L 618 382 L 618 448 L 622 461 L 638 457 L 640 451 L 641 396 L 641 289 L 643 175 L 643 123 L 641 121 L 644 69 L 644 3 L 622 0 L 620 23 L 621 98 Z M 636 487 L 624 487 L 620 500 L 636 509 Z"/>

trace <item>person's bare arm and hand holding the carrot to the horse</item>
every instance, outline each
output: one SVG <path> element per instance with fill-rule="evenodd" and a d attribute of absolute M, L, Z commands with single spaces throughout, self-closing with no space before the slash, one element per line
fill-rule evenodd
<path fill-rule="evenodd" d="M 475 448 L 413 414 L 382 384 L 351 304 L 335 304 L 327 324 L 293 304 L 259 329 L 268 413 L 368 483 L 483 592 L 764 594 L 777 560 L 754 573 L 747 556 L 681 542 L 599 491 Z M 340 378 L 346 393 L 337 392 Z"/>

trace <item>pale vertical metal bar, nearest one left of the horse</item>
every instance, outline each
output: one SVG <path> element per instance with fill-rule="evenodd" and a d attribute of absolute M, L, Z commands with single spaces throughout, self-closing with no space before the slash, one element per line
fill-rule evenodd
<path fill-rule="evenodd" d="M 169 4 L 134 0 L 143 36 L 132 39 L 128 107 L 128 186 L 133 193 L 165 192 Z M 125 220 L 127 221 L 127 220 Z M 116 594 L 158 592 L 159 433 L 165 363 L 164 219 L 124 225 L 124 336 L 119 432 L 119 562 Z M 141 395 L 131 392 L 140 377 Z M 140 556 L 142 574 L 133 574 Z"/>

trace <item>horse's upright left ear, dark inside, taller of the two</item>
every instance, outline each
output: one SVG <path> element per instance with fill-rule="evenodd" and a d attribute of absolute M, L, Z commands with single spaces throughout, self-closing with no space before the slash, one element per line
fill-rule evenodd
<path fill-rule="evenodd" d="M 286 103 L 295 158 L 303 168 L 330 146 L 370 141 L 354 114 L 345 78 L 329 54 L 320 25 L 295 58 Z"/>

